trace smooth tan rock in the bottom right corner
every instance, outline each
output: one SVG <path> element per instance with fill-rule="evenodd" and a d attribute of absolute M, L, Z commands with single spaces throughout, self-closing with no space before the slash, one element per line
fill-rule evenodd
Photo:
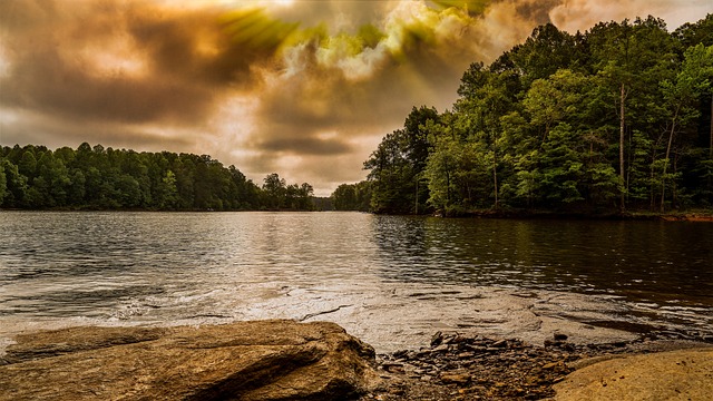
<path fill-rule="evenodd" d="M 557 401 L 701 400 L 713 397 L 713 348 L 602 361 L 555 385 Z"/>

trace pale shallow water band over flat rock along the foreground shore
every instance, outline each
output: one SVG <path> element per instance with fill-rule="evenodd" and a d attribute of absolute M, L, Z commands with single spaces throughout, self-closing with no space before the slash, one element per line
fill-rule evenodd
<path fill-rule="evenodd" d="M 499 286 L 381 283 L 325 288 L 258 288 L 245 305 L 232 305 L 233 314 L 157 315 L 147 306 L 120 316 L 56 316 L 0 319 L 0 353 L 8 338 L 22 332 L 70 326 L 212 325 L 238 321 L 286 319 L 330 321 L 365 341 L 379 353 L 418 350 L 436 331 L 492 339 L 519 339 L 543 345 L 555 334 L 575 344 L 627 342 L 646 334 L 675 339 L 705 338 L 713 331 L 703 311 L 688 311 L 685 322 L 671 321 L 658 309 L 632 304 L 607 294 L 584 294 Z M 217 311 L 216 311 L 217 313 Z M 693 314 L 691 314 L 693 313 Z M 170 319 L 168 319 L 170 317 Z"/>

